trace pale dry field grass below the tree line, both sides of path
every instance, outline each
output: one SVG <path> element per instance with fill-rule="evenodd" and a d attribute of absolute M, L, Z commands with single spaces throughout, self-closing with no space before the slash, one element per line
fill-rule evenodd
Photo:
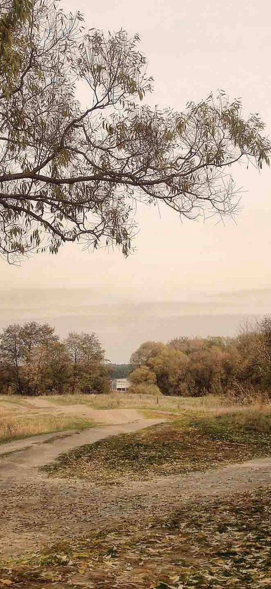
<path fill-rule="evenodd" d="M 91 424 L 79 415 L 61 414 L 61 406 L 85 405 L 93 409 L 138 409 L 145 417 L 178 419 L 185 416 L 235 415 L 235 419 L 247 423 L 258 420 L 266 422 L 270 414 L 270 403 L 237 405 L 232 400 L 208 395 L 202 398 L 166 397 L 114 392 L 109 395 L 63 395 L 48 396 L 59 413 L 51 415 L 48 408 L 37 409 L 29 403 L 29 398 L 20 396 L 0 396 L 0 442 L 10 441 L 36 434 L 79 429 Z M 236 417 L 237 416 L 237 417 Z M 264 429 L 264 428 L 263 428 Z"/>

